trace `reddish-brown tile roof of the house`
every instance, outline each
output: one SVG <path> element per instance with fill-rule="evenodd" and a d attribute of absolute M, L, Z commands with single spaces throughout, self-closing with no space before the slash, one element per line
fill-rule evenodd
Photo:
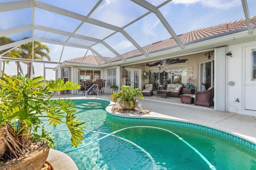
<path fill-rule="evenodd" d="M 256 16 L 251 17 L 250 19 L 251 19 L 251 25 L 255 25 L 256 24 Z M 185 34 L 180 34 L 180 35 L 178 35 L 178 38 L 180 39 L 180 41 L 182 43 L 187 43 L 187 42 L 192 42 L 194 40 L 200 40 L 202 38 L 207 38 L 210 36 L 218 35 L 218 34 L 221 34 L 224 32 L 232 31 L 232 30 L 237 30 L 237 29 L 244 28 L 244 27 L 247 27 L 246 20 L 241 19 L 241 20 L 236 20 L 233 22 L 219 24 L 216 26 L 201 28 L 198 30 L 187 32 Z M 174 39 L 168 38 L 167 40 L 162 40 L 159 42 L 152 43 L 150 45 L 146 45 L 145 47 L 142 47 L 142 49 L 144 49 L 147 53 L 149 53 L 152 51 L 164 49 L 167 47 L 172 47 L 175 45 L 177 45 L 177 43 L 174 41 Z M 142 53 L 138 49 L 136 49 L 136 50 L 122 54 L 122 57 L 128 58 L 128 57 L 141 55 L 141 54 Z M 104 64 L 104 63 L 106 63 L 100 57 L 98 57 L 98 56 L 94 57 L 94 55 L 86 55 L 84 60 L 83 60 L 83 58 L 84 58 L 84 56 L 76 57 L 76 58 L 65 60 L 64 62 L 81 63 L 83 61 L 82 63 L 85 63 L 85 64 L 98 64 L 98 63 Z M 105 57 L 105 58 L 110 62 L 120 60 L 120 58 L 117 56 L 116 57 Z"/>

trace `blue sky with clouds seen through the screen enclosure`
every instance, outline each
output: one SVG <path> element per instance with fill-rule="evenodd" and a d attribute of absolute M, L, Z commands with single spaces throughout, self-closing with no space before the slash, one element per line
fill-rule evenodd
<path fill-rule="evenodd" d="M 9 0 L 0 0 L 0 2 L 8 1 Z M 40 1 L 85 16 L 88 15 L 92 7 L 97 2 L 96 0 Z M 152 3 L 154 6 L 158 6 L 165 0 L 147 1 Z M 247 0 L 247 3 L 250 16 L 256 16 L 256 0 Z M 241 0 L 172 0 L 168 4 L 159 8 L 159 10 L 166 18 L 176 35 L 245 18 Z M 126 24 L 132 22 L 146 12 L 148 12 L 146 9 L 129 0 L 103 0 L 89 17 L 123 28 Z M 0 30 L 7 30 L 17 26 L 32 24 L 32 8 L 0 12 L 0 18 Z M 78 28 L 81 21 L 35 8 L 34 24 L 72 33 Z M 154 13 L 148 14 L 134 24 L 125 27 L 124 31 L 126 31 L 141 47 L 172 37 Z M 101 28 L 84 22 L 81 27 L 78 28 L 76 34 L 103 39 L 113 32 L 113 30 L 108 30 L 106 28 Z M 8 37 L 17 41 L 22 40 L 25 36 L 32 37 L 32 32 L 22 32 Z M 34 36 L 48 40 L 58 40 L 61 42 L 65 42 L 68 39 L 66 36 L 58 36 L 57 34 L 46 33 L 39 30 L 34 31 Z M 136 47 L 134 47 L 134 45 L 119 32 L 104 39 L 104 41 L 120 54 L 136 49 Z M 85 46 L 94 44 L 93 42 L 81 41 L 76 38 L 70 38 L 68 42 Z M 61 45 L 54 45 L 50 43 L 44 44 L 48 45 L 50 48 L 49 55 L 52 61 L 64 61 L 66 59 L 84 56 L 85 54 L 92 54 L 90 50 L 86 53 L 87 49 L 74 47 L 64 47 L 63 49 Z M 102 56 L 116 56 L 100 43 L 92 46 L 92 48 Z M 49 67 L 52 66 L 53 65 L 50 65 Z M 16 67 L 15 63 L 11 62 L 6 66 L 6 72 L 9 74 L 16 74 L 16 69 L 13 69 L 14 67 Z M 36 73 L 42 75 L 41 66 L 38 65 L 37 70 L 40 71 L 36 71 Z M 24 71 L 26 72 L 26 66 L 24 66 Z M 49 74 L 53 75 L 53 73 Z"/>

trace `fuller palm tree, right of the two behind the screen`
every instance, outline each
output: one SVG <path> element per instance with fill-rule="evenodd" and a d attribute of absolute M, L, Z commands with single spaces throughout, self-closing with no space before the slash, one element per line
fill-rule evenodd
<path fill-rule="evenodd" d="M 27 39 L 24 38 L 24 39 Z M 22 56 L 24 59 L 32 59 L 33 57 L 33 48 L 32 48 L 32 42 L 22 44 L 18 47 L 18 53 Z M 46 51 L 46 52 L 44 52 Z M 51 60 L 48 53 L 50 52 L 50 49 L 47 45 L 44 45 L 40 42 L 34 42 L 34 59 L 35 60 L 43 60 L 46 58 L 48 61 Z M 33 69 L 33 76 L 34 76 L 34 67 L 31 62 L 27 63 L 28 65 L 28 77 L 31 77 L 31 69 Z"/>

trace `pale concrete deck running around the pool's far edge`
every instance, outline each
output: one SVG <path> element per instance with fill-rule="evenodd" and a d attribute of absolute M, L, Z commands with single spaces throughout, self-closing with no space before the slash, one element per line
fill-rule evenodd
<path fill-rule="evenodd" d="M 85 97 L 78 95 L 56 95 L 53 99 L 102 99 L 111 101 L 110 94 L 99 95 L 96 97 Z M 111 111 L 112 105 L 106 110 L 112 114 L 118 114 L 124 117 L 144 117 L 156 119 L 168 119 L 173 121 L 181 121 L 194 123 L 210 128 L 215 128 L 229 134 L 233 134 L 245 140 L 256 144 L 256 116 L 241 115 L 237 113 L 225 113 L 214 111 L 213 107 L 194 106 L 182 104 L 180 98 L 171 97 L 157 98 L 156 95 L 144 97 L 144 100 L 138 99 L 142 103 L 142 108 L 148 111 L 149 114 L 119 114 Z M 58 170 L 58 168 L 54 168 Z M 60 170 L 67 170 L 65 167 L 60 167 Z"/>

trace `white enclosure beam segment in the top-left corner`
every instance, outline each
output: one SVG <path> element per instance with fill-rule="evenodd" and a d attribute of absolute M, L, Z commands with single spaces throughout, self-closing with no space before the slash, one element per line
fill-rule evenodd
<path fill-rule="evenodd" d="M 19 10 L 19 9 L 23 9 L 23 8 L 30 8 L 33 6 L 35 6 L 35 5 L 30 0 L 3 2 L 0 5 L 0 12 Z"/>

